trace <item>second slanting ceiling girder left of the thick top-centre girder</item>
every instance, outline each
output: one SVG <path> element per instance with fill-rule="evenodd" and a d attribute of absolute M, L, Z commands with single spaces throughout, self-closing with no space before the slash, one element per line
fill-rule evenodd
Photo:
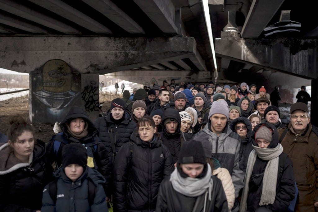
<path fill-rule="evenodd" d="M 76 10 L 70 5 L 62 2 L 61 0 L 30 0 L 34 4 L 52 11 L 74 23 L 95 33 L 111 34 L 112 32 L 104 25 L 95 21 L 93 18 L 85 15 L 84 13 Z"/>

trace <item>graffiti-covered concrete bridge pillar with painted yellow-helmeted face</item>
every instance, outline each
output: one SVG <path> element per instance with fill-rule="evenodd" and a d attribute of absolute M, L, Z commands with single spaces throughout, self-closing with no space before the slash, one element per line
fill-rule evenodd
<path fill-rule="evenodd" d="M 61 122 L 74 106 L 85 108 L 92 121 L 98 117 L 99 75 L 80 74 L 63 60 L 48 60 L 30 73 L 30 120 Z"/>

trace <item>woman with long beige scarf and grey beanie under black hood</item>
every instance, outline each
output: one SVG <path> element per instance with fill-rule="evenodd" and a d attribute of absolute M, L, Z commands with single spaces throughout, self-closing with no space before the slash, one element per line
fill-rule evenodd
<path fill-rule="evenodd" d="M 287 211 L 295 196 L 292 161 L 283 153 L 274 125 L 258 124 L 252 131 L 253 150 L 245 172 L 240 212 Z M 280 161 L 285 160 L 283 166 Z"/>

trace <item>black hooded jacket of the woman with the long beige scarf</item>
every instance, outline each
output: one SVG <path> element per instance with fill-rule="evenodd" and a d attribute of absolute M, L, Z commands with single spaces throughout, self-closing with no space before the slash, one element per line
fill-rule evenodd
<path fill-rule="evenodd" d="M 274 128 L 272 124 L 264 123 L 264 124 L 258 124 L 255 126 L 254 130 L 252 131 L 252 144 L 257 146 L 257 143 L 255 141 L 255 132 L 261 127 L 262 125 L 265 125 L 267 128 L 269 128 L 272 131 L 272 141 L 268 145 L 267 148 L 275 148 L 279 141 L 278 141 L 278 132 Z M 286 156 L 285 153 L 281 153 L 279 156 L 279 160 L 281 160 L 282 157 L 287 157 L 285 166 L 283 169 L 283 172 L 280 176 L 280 167 L 278 167 L 277 170 L 277 186 L 276 186 L 276 196 L 275 201 L 271 205 L 262 206 L 265 208 L 270 209 L 273 212 L 278 211 L 287 211 L 287 207 L 294 199 L 295 196 L 295 186 L 294 186 L 294 170 L 293 170 L 293 162 L 292 160 Z M 259 157 L 256 158 L 255 164 L 253 166 L 252 170 L 252 176 L 258 174 L 261 175 L 265 172 L 265 168 L 268 161 L 262 160 Z M 245 182 L 246 183 L 246 182 Z M 262 195 L 262 187 L 263 187 L 263 180 L 261 180 L 259 186 L 257 188 L 249 187 L 248 197 L 247 197 L 247 211 L 255 211 L 257 208 L 259 208 L 259 201 L 260 197 Z"/>

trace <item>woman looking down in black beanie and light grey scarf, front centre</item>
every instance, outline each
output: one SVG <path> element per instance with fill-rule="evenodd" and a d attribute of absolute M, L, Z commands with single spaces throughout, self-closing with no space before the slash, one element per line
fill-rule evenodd
<path fill-rule="evenodd" d="M 156 211 L 228 211 L 221 181 L 211 175 L 201 142 L 185 142 L 176 169 L 159 188 Z"/>

